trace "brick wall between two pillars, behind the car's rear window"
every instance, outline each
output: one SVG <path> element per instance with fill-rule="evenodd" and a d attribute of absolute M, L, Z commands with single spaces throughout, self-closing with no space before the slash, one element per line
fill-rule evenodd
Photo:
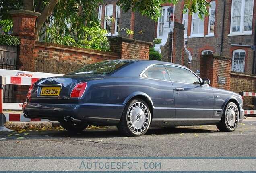
<path fill-rule="evenodd" d="M 66 74 L 86 64 L 120 59 L 117 53 L 36 42 L 33 71 Z"/>

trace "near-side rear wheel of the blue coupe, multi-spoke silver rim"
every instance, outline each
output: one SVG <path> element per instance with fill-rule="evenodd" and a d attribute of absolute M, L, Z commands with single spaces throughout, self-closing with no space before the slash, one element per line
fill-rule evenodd
<path fill-rule="evenodd" d="M 117 127 L 122 135 L 141 136 L 147 132 L 150 123 L 149 106 L 142 99 L 134 99 L 126 104 Z"/>

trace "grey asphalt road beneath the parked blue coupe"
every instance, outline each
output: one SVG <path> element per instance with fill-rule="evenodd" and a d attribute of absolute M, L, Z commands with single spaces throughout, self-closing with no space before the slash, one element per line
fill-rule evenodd
<path fill-rule="evenodd" d="M 116 128 L 43 129 L 0 132 L 0 157 L 256 157 L 255 141 L 256 123 L 226 133 L 215 125 L 158 127 L 141 137 L 123 137 Z"/>

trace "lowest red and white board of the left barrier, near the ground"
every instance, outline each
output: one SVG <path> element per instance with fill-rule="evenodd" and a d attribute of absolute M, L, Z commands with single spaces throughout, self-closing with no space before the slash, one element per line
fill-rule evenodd
<path fill-rule="evenodd" d="M 49 121 L 48 119 L 40 119 L 40 118 L 25 118 L 23 116 L 23 113 L 18 114 L 18 113 L 4 113 L 6 117 L 6 122 L 7 121 L 23 121 L 23 122 L 32 122 L 32 121 Z"/>

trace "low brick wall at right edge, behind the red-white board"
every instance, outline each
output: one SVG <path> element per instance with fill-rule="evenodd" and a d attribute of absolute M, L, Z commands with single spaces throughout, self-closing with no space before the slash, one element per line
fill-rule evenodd
<path fill-rule="evenodd" d="M 256 75 L 238 72 L 231 73 L 230 90 L 236 93 L 256 92 Z M 256 97 L 244 97 L 244 109 L 253 110 Z"/>

